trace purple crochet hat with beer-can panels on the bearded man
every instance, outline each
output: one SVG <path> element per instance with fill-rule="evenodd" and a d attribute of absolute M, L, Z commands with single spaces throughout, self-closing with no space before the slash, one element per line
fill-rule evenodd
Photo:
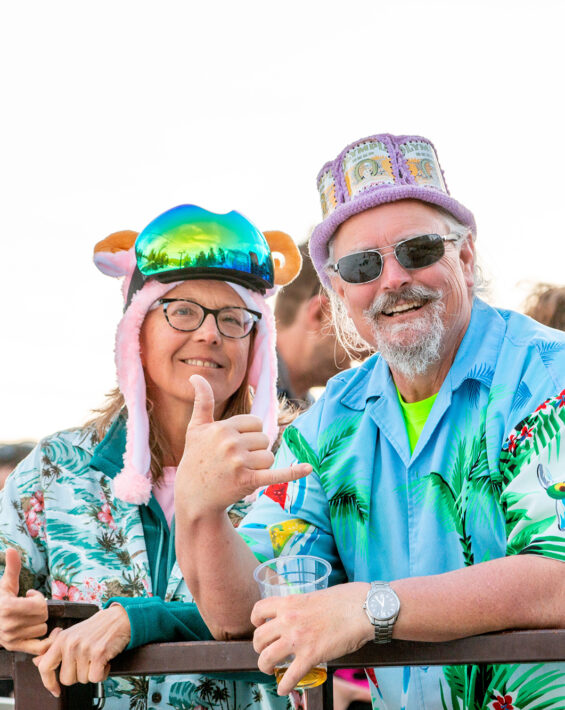
<path fill-rule="evenodd" d="M 449 194 L 431 141 L 422 136 L 380 133 L 348 145 L 317 178 L 322 222 L 310 237 L 310 254 L 326 286 L 328 243 L 340 224 L 359 212 L 397 200 L 442 207 L 476 234 L 472 212 Z"/>

